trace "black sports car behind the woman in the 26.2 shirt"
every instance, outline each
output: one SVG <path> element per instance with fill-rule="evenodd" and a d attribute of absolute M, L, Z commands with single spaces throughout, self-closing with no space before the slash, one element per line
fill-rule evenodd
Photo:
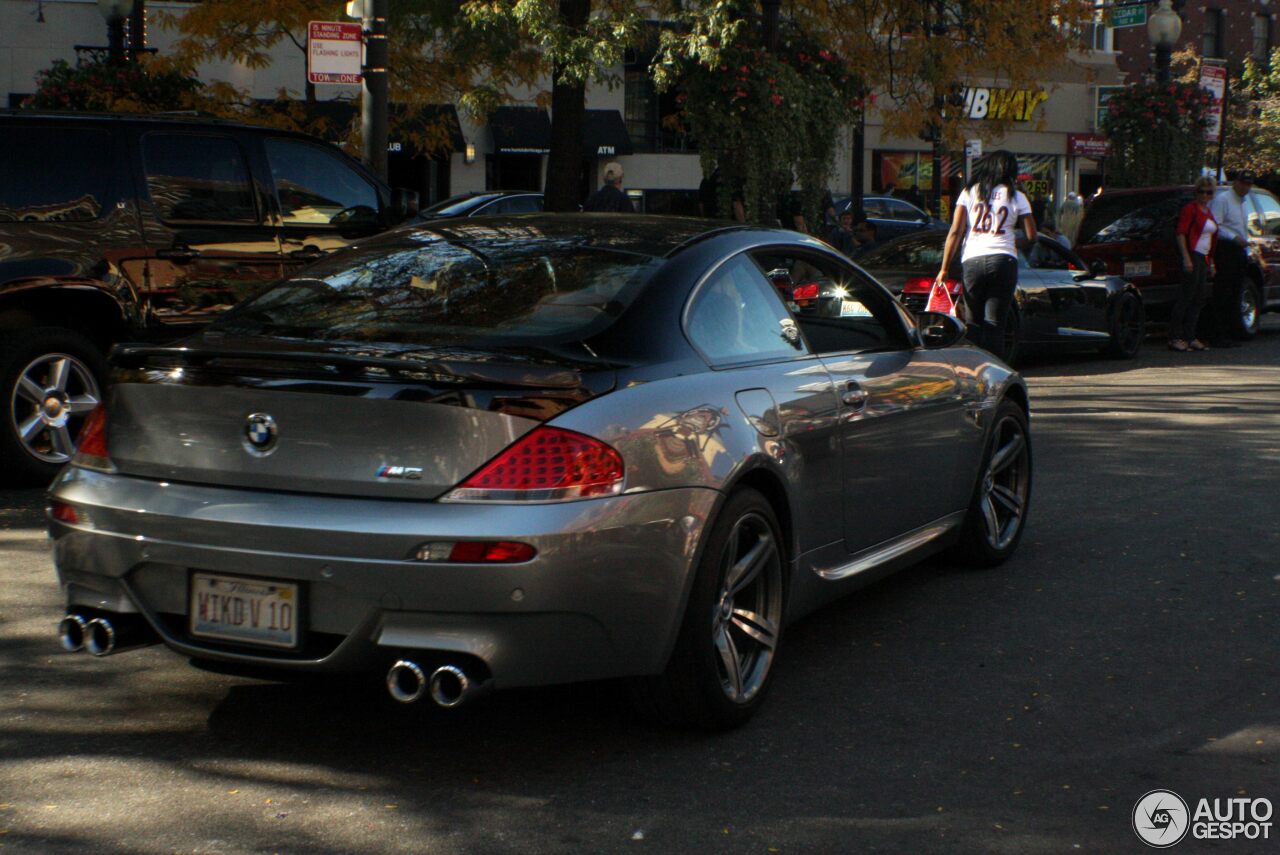
<path fill-rule="evenodd" d="M 942 262 L 946 232 L 919 232 L 872 250 L 858 262 L 911 311 L 923 311 Z M 957 253 L 959 255 L 959 253 Z M 956 261 L 947 280 L 960 300 Z M 1018 294 L 1009 314 L 1005 356 L 1010 365 L 1029 351 L 1098 349 L 1130 360 L 1147 334 L 1138 289 L 1092 268 L 1052 238 L 1039 236 L 1018 259 Z"/>

